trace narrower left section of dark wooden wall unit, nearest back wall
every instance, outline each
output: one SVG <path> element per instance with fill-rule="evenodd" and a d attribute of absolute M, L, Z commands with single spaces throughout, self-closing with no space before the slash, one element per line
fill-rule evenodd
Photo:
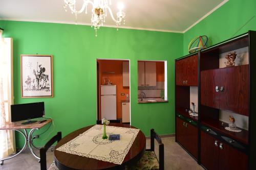
<path fill-rule="evenodd" d="M 190 87 L 198 86 L 198 54 L 176 60 L 176 142 L 198 160 L 198 116 L 188 113 Z"/>

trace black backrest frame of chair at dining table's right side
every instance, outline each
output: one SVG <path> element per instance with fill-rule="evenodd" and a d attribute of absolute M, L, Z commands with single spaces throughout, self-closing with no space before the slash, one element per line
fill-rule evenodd
<path fill-rule="evenodd" d="M 162 143 L 162 140 L 160 136 L 155 132 L 154 129 L 151 129 L 150 131 L 150 151 L 155 152 L 155 140 L 157 140 L 159 144 L 159 170 L 164 169 L 164 144 Z"/>

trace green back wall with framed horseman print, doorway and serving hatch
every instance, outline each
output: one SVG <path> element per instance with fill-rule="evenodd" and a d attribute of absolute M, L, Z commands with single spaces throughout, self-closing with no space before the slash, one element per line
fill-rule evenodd
<path fill-rule="evenodd" d="M 54 119 L 63 136 L 96 123 L 96 59 L 131 60 L 131 123 L 145 135 L 175 133 L 174 59 L 182 56 L 183 34 L 101 28 L 98 37 L 89 26 L 58 23 L 0 21 L 4 37 L 13 38 L 14 103 L 45 102 L 46 116 Z M 20 55 L 53 55 L 54 98 L 20 97 Z M 168 103 L 137 103 L 137 61 L 167 60 Z M 40 130 L 44 131 L 46 128 Z M 48 131 L 50 132 L 51 129 Z M 35 132 L 35 134 L 40 133 Z M 48 132 L 35 139 L 41 146 Z M 49 138 L 49 137 L 48 137 Z M 23 138 L 16 135 L 17 147 Z"/>

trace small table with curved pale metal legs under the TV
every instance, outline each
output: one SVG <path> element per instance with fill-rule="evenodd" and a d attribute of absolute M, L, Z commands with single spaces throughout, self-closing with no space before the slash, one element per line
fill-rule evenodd
<path fill-rule="evenodd" d="M 36 148 L 35 145 L 32 142 L 33 132 L 35 130 L 41 129 L 42 127 L 46 126 L 47 124 L 52 122 L 52 120 L 47 119 L 45 122 L 43 122 L 41 124 L 39 124 L 38 122 L 35 122 L 35 123 L 32 123 L 32 124 L 23 125 L 22 124 L 23 122 L 24 121 L 9 123 L 6 126 L 0 127 L 0 130 L 14 130 L 14 131 L 17 131 L 17 132 L 21 133 L 25 138 L 25 143 L 24 143 L 24 147 L 22 148 L 22 150 L 20 150 L 15 155 L 12 155 L 12 156 L 4 158 L 4 159 L 1 159 L 1 163 L 0 163 L 1 165 L 4 164 L 5 160 L 11 159 L 11 158 L 17 156 L 18 154 L 22 153 L 27 148 L 27 145 L 29 145 L 29 149 L 30 149 L 31 153 L 34 155 L 34 157 L 36 157 L 38 159 L 38 161 L 40 161 L 40 157 L 38 157 L 32 149 L 32 147 L 33 147 L 33 148 L 39 150 L 39 148 Z M 28 133 L 27 129 L 31 129 L 31 131 Z M 24 130 L 24 132 L 23 132 L 23 130 Z"/>

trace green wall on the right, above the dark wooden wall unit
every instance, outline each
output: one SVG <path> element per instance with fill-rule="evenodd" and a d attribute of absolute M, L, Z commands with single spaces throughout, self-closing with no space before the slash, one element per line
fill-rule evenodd
<path fill-rule="evenodd" d="M 188 54 L 189 42 L 199 35 L 208 36 L 216 44 L 248 30 L 256 30 L 256 1 L 229 0 L 184 33 L 183 54 Z"/>

